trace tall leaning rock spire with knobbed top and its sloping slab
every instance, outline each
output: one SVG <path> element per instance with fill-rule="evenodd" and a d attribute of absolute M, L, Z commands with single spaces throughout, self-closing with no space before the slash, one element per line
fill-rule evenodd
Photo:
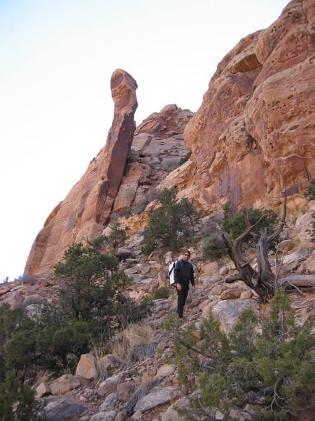
<path fill-rule="evenodd" d="M 102 234 L 130 153 L 136 89 L 137 83 L 130 74 L 120 69 L 113 72 L 111 92 L 115 110 L 106 146 L 48 216 L 29 253 L 25 274 L 43 274 L 62 260 L 64 250 L 71 244 Z"/>

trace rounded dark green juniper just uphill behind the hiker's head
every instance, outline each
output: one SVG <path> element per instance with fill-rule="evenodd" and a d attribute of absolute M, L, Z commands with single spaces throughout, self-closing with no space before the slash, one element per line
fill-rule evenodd
<path fill-rule="evenodd" d="M 193 235 L 190 228 L 196 211 L 188 199 L 176 201 L 175 189 L 165 189 L 160 207 L 151 211 L 148 227 L 144 229 L 143 253 L 149 254 L 159 246 L 179 250 Z"/>

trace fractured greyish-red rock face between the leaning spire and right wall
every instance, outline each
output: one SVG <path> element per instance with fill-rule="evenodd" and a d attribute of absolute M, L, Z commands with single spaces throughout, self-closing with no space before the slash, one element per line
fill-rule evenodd
<path fill-rule="evenodd" d="M 156 199 L 157 187 L 188 153 L 183 140 L 186 124 L 193 117 L 187 109 L 166 105 L 137 127 L 113 213 L 140 213 Z"/>

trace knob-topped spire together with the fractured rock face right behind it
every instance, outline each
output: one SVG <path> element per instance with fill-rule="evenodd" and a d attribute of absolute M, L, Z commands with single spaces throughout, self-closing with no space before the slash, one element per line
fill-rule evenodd
<path fill-rule="evenodd" d="M 49 272 L 71 244 L 100 236 L 110 218 L 141 213 L 156 198 L 155 187 L 188 152 L 183 131 L 192 112 L 167 105 L 134 132 L 136 81 L 116 70 L 111 88 L 115 115 L 106 146 L 48 216 L 31 248 L 25 275 Z"/>

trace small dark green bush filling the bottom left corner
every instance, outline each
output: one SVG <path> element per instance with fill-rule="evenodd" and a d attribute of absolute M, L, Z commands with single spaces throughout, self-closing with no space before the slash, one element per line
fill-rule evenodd
<path fill-rule="evenodd" d="M 0 380 L 0 420 L 45 421 L 43 403 L 35 401 L 34 395 L 29 386 L 20 385 L 15 370 L 8 370 Z"/>

